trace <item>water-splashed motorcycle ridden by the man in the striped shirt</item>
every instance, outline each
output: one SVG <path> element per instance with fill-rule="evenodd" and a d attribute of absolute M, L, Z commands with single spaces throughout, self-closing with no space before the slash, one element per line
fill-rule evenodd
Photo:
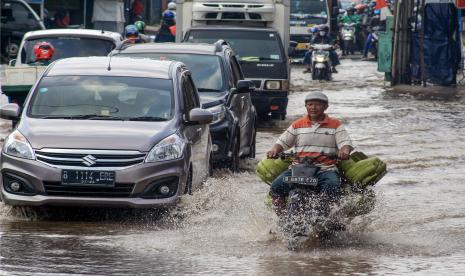
<path fill-rule="evenodd" d="M 283 153 L 280 158 L 295 158 L 295 154 Z M 374 208 L 375 194 L 371 189 L 358 191 L 356 197 L 345 192 L 339 200 L 321 193 L 317 177 L 320 168 L 314 161 L 311 157 L 301 158 L 299 164 L 292 166 L 291 176 L 284 178 L 291 191 L 280 225 L 287 238 L 287 247 L 292 251 L 309 239 L 329 238 L 336 232 L 345 231 L 352 218 Z"/>

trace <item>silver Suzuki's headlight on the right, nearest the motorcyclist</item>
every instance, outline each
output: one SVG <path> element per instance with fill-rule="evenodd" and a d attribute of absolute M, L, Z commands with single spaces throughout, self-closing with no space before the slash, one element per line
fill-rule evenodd
<path fill-rule="evenodd" d="M 156 144 L 150 150 L 145 162 L 160 162 L 175 160 L 182 157 L 185 143 L 176 133 L 172 134 Z"/>

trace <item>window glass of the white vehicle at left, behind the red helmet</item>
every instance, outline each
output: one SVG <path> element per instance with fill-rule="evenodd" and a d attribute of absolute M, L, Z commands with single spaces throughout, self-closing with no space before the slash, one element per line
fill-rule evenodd
<path fill-rule="evenodd" d="M 43 41 L 49 42 L 55 48 L 51 61 L 67 57 L 106 56 L 115 48 L 115 44 L 106 39 L 75 36 L 41 37 L 29 39 L 24 43 L 21 62 L 35 62 L 34 45 Z"/>

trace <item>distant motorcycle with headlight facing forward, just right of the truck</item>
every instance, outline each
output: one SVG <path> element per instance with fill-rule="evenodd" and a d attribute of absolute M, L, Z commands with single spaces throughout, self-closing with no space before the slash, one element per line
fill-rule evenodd
<path fill-rule="evenodd" d="M 312 44 L 312 80 L 331 80 L 331 59 L 329 52 L 333 46 L 330 44 Z"/>

